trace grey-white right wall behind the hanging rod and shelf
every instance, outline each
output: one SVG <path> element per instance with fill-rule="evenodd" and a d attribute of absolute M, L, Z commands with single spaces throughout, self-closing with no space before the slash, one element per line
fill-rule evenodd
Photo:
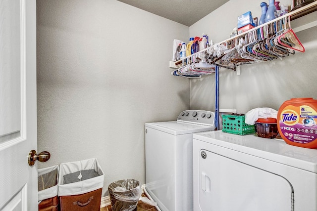
<path fill-rule="evenodd" d="M 237 17 L 251 11 L 253 17 L 261 16 L 261 0 L 230 0 L 197 23 L 190 26 L 190 36 L 208 34 L 215 42 L 229 38 L 237 24 Z M 268 1 L 267 1 L 268 2 Z M 284 0 L 281 3 L 287 3 Z M 290 2 L 289 2 L 290 4 Z M 317 12 L 292 21 L 295 28 L 301 24 L 316 21 Z M 221 68 L 219 71 L 219 107 L 237 109 L 246 113 L 257 107 L 280 105 L 294 97 L 317 99 L 317 27 L 296 33 L 306 52 L 296 52 L 283 60 L 276 59 L 241 67 L 241 75 Z M 214 75 L 191 80 L 191 109 L 214 110 Z"/>

